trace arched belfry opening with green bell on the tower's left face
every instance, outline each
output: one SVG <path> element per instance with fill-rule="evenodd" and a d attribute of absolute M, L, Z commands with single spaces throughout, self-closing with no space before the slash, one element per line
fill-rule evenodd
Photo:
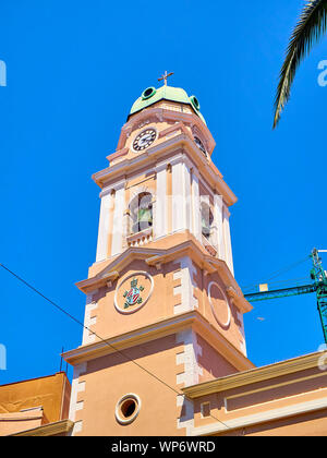
<path fill-rule="evenodd" d="M 153 196 L 149 192 L 136 195 L 130 204 L 131 232 L 136 233 L 153 226 Z"/>

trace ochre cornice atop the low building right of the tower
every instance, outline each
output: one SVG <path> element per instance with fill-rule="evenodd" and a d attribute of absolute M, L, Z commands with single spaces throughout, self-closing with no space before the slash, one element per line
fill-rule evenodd
<path fill-rule="evenodd" d="M 216 378 L 215 381 L 189 386 L 182 388 L 182 390 L 187 397 L 195 399 L 201 396 L 211 395 L 214 393 L 225 391 L 227 389 L 238 388 L 241 386 L 317 367 L 318 359 L 320 355 L 322 352 L 305 354 L 291 360 L 265 365 L 263 367 L 255 367 L 246 372 L 239 372 L 233 375 Z"/>

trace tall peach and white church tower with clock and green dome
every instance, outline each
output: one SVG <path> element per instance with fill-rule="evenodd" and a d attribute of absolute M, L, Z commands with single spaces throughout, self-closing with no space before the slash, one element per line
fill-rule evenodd
<path fill-rule="evenodd" d="M 133 104 L 100 188 L 96 261 L 74 366 L 73 435 L 187 435 L 182 388 L 253 369 L 233 276 L 235 195 L 211 161 L 195 96 L 148 87 Z"/>

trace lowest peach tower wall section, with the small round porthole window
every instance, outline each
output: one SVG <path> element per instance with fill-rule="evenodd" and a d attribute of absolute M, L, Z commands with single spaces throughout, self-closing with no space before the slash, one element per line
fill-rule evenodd
<path fill-rule="evenodd" d="M 211 378 L 235 372 L 222 358 L 216 358 L 213 367 L 213 361 L 208 363 L 202 355 L 203 350 L 207 349 L 197 343 L 196 333 L 184 329 L 84 363 L 73 434 L 187 434 L 187 427 L 193 426 L 193 402 L 180 396 L 180 389 L 198 383 L 204 372 L 213 371 Z M 126 394 L 136 395 L 141 408 L 135 421 L 124 425 L 114 413 Z"/>

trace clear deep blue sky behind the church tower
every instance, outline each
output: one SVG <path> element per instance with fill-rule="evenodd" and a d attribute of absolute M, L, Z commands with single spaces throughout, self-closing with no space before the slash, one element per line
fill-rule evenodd
<path fill-rule="evenodd" d="M 239 284 L 264 282 L 314 246 L 327 249 L 327 86 L 317 84 L 326 39 L 301 67 L 271 131 L 279 68 L 302 4 L 1 2 L 0 263 L 83 321 L 85 297 L 74 284 L 95 260 L 99 190 L 90 176 L 106 167 L 133 101 L 165 70 L 174 72 L 171 85 L 199 99 L 217 143 L 213 159 L 239 197 L 231 208 Z M 310 268 L 303 262 L 271 287 L 305 284 Z M 8 351 L 0 383 L 58 371 L 61 348 L 78 346 L 82 329 L 3 269 L 0 285 Z M 257 365 L 316 351 L 315 296 L 256 304 L 245 333 Z"/>

